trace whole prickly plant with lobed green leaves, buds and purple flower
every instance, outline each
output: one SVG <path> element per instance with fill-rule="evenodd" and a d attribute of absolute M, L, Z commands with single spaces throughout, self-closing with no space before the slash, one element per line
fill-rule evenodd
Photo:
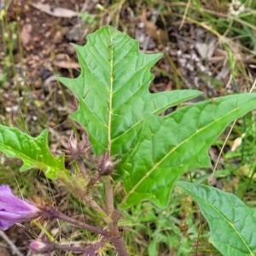
<path fill-rule="evenodd" d="M 49 151 L 48 131 L 30 137 L 17 128 L 0 125 L 0 150 L 7 157 L 20 158 L 20 172 L 38 168 L 46 177 L 65 184 L 84 205 L 89 205 L 105 223 L 102 227 L 80 222 L 58 212 L 43 201 L 22 201 L 8 186 L 0 188 L 0 228 L 31 218 L 59 218 L 99 235 L 91 247 L 59 245 L 35 240 L 35 253 L 71 250 L 94 255 L 111 242 L 119 255 L 129 255 L 119 231 L 124 208 L 142 201 L 165 207 L 177 185 L 198 203 L 210 225 L 209 241 L 224 255 L 256 254 L 256 211 L 235 195 L 198 183 L 177 181 L 193 168 L 210 166 L 207 153 L 224 128 L 256 106 L 255 94 L 239 94 L 197 102 L 182 103 L 201 95 L 196 90 L 172 90 L 151 94 L 150 68 L 161 54 L 143 54 L 138 42 L 111 26 L 104 26 L 88 37 L 85 46 L 73 45 L 79 56 L 81 73 L 77 79 L 57 78 L 78 99 L 79 108 L 71 118 L 90 137 L 98 159 L 96 171 L 84 164 L 84 139 L 72 136 L 67 148 L 79 172 L 70 172 L 64 156 Z M 178 106 L 167 115 L 167 108 Z M 121 182 L 123 200 L 116 201 L 113 183 Z M 105 185 L 105 205 L 94 198 L 96 183 Z M 9 202 L 6 204 L 6 202 Z M 115 207 L 118 206 L 118 207 Z M 106 229 L 107 226 L 107 229 Z"/>

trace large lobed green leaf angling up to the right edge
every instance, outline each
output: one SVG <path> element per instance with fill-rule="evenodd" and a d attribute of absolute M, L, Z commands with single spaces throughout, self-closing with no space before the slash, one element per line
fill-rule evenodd
<path fill-rule="evenodd" d="M 122 207 L 142 200 L 166 206 L 177 177 L 210 166 L 210 145 L 232 120 L 255 106 L 255 94 L 240 94 L 199 102 L 165 117 L 148 115 L 137 147 L 123 164 L 127 194 Z"/>

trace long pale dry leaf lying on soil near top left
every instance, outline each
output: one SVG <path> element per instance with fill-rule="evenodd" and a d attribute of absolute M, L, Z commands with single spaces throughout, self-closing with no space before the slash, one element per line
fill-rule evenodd
<path fill-rule="evenodd" d="M 32 7 L 38 9 L 48 15 L 59 17 L 59 18 L 72 18 L 77 16 L 79 13 L 72 9 L 66 9 L 61 7 L 54 7 L 44 3 L 31 3 Z"/>

